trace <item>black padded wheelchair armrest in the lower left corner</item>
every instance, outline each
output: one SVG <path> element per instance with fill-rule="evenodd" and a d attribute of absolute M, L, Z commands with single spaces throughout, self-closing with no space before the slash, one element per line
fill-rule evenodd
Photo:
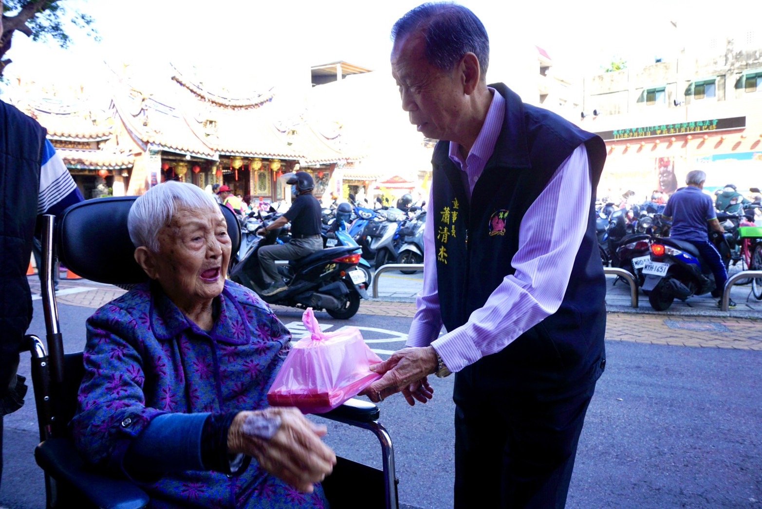
<path fill-rule="evenodd" d="M 66 438 L 40 443 L 34 450 L 34 459 L 53 479 L 68 482 L 97 507 L 139 509 L 150 502 L 146 492 L 132 482 L 88 471 L 74 444 Z"/>

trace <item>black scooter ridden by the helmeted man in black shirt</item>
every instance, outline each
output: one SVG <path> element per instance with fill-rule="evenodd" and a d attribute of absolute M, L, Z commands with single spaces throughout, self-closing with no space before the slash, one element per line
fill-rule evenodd
<path fill-rule="evenodd" d="M 283 261 L 278 271 L 287 290 L 263 296 L 264 287 L 258 251 L 277 242 L 278 229 L 255 240 L 253 246 L 230 271 L 230 279 L 254 290 L 265 302 L 299 309 L 325 309 L 335 319 L 350 319 L 360 309 L 360 299 L 368 298 L 365 274 L 357 270 L 360 254 L 354 246 L 328 248 L 299 260 Z"/>

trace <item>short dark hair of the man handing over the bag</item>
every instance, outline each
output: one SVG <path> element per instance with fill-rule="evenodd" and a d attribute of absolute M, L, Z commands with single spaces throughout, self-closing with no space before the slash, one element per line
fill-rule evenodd
<path fill-rule="evenodd" d="M 408 11 L 392 27 L 392 41 L 421 31 L 426 41 L 427 62 L 452 71 L 466 53 L 479 59 L 482 80 L 489 64 L 489 37 L 482 21 L 469 9 L 454 2 L 430 2 Z"/>

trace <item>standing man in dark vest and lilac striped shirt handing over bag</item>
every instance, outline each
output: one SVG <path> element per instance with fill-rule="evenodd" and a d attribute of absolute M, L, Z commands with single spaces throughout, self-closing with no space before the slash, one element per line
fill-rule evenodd
<path fill-rule="evenodd" d="M 421 5 L 392 39 L 402 109 L 440 142 L 418 312 L 364 393 L 414 405 L 428 375 L 456 373 L 455 507 L 563 507 L 606 363 L 604 142 L 487 85 L 488 37 L 467 8 Z"/>

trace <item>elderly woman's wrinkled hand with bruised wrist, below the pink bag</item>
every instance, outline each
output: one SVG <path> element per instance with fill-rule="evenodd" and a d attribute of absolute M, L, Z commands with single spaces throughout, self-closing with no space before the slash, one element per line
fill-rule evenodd
<path fill-rule="evenodd" d="M 280 426 L 269 439 L 251 432 L 260 428 L 262 421 L 278 420 Z M 299 491 L 312 493 L 314 483 L 325 479 L 336 464 L 336 455 L 320 440 L 326 433 L 325 426 L 312 424 L 297 408 L 242 411 L 228 431 L 228 450 L 254 456 L 267 472 Z"/>

